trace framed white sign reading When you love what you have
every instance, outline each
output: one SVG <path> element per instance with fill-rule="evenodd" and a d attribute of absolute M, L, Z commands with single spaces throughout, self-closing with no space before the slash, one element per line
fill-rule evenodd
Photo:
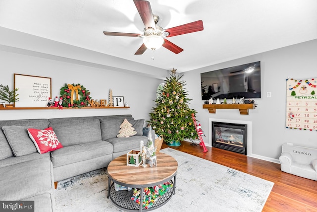
<path fill-rule="evenodd" d="M 52 97 L 52 78 L 14 73 L 14 88 L 19 88 L 14 107 L 46 107 Z"/>

